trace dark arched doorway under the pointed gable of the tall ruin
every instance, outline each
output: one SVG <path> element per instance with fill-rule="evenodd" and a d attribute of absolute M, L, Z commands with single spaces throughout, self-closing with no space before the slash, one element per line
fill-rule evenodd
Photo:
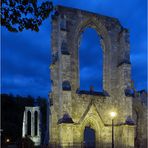
<path fill-rule="evenodd" d="M 95 130 L 89 126 L 84 129 L 84 148 L 95 148 L 96 134 Z"/>

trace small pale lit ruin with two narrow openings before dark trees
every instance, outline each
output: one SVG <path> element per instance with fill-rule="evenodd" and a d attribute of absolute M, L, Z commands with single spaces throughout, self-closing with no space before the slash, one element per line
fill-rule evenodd
<path fill-rule="evenodd" d="M 25 107 L 22 137 L 24 138 L 26 136 L 34 142 L 35 146 L 41 144 L 40 108 L 37 106 Z"/>

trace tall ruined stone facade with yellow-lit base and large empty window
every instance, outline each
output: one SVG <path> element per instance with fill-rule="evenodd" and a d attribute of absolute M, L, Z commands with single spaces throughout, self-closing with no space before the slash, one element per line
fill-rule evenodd
<path fill-rule="evenodd" d="M 104 92 L 79 90 L 79 45 L 82 32 L 91 27 L 101 37 Z M 116 111 L 115 147 L 134 147 L 133 97 L 131 87 L 129 32 L 118 19 L 58 6 L 52 17 L 50 66 L 52 93 L 50 144 L 70 147 L 84 141 L 84 129 L 95 130 L 96 147 L 111 147 L 111 117 Z M 67 117 L 67 119 L 65 119 Z M 67 121 L 66 121 L 67 120 Z"/>

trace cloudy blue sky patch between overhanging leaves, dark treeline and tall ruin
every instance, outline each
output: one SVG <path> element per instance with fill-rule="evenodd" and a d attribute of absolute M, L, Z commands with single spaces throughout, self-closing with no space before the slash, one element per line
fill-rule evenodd
<path fill-rule="evenodd" d="M 49 28 L 49 27 L 48 27 Z M 47 98 L 50 30 L 10 33 L 2 28 L 2 92 Z"/>

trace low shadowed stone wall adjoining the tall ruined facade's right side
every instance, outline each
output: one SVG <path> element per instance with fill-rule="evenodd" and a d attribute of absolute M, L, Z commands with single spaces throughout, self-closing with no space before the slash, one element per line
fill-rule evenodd
<path fill-rule="evenodd" d="M 135 148 L 147 148 L 148 108 L 147 94 L 145 91 L 135 92 L 133 97 L 133 118 L 136 124 Z"/>

